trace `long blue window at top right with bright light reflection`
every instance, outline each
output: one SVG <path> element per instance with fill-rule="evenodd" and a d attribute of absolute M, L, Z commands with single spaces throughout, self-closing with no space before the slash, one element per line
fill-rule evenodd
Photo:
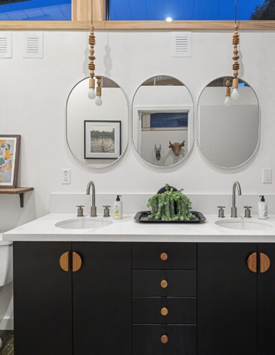
<path fill-rule="evenodd" d="M 109 0 L 111 21 L 229 21 L 234 0 Z M 274 20 L 274 0 L 239 0 L 239 20 Z"/>

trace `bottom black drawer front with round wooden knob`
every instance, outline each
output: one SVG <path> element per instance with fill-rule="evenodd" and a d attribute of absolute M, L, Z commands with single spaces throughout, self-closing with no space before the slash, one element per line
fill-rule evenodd
<path fill-rule="evenodd" d="M 196 325 L 133 325 L 133 355 L 185 354 L 197 354 Z"/>

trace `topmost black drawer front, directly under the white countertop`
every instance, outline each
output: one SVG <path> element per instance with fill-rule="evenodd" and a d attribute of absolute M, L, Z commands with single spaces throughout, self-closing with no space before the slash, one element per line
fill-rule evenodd
<path fill-rule="evenodd" d="M 132 268 L 196 269 L 197 245 L 195 243 L 133 243 Z"/>

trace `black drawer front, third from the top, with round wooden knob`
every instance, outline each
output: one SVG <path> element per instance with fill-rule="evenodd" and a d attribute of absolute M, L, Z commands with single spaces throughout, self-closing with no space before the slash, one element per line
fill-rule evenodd
<path fill-rule="evenodd" d="M 196 324 L 196 298 L 133 297 L 135 324 Z"/>

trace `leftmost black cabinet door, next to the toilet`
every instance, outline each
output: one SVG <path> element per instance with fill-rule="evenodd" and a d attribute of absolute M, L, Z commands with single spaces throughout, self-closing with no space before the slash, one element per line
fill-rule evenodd
<path fill-rule="evenodd" d="M 72 243 L 21 242 L 14 250 L 17 355 L 72 355 L 72 272 L 59 265 Z"/>

